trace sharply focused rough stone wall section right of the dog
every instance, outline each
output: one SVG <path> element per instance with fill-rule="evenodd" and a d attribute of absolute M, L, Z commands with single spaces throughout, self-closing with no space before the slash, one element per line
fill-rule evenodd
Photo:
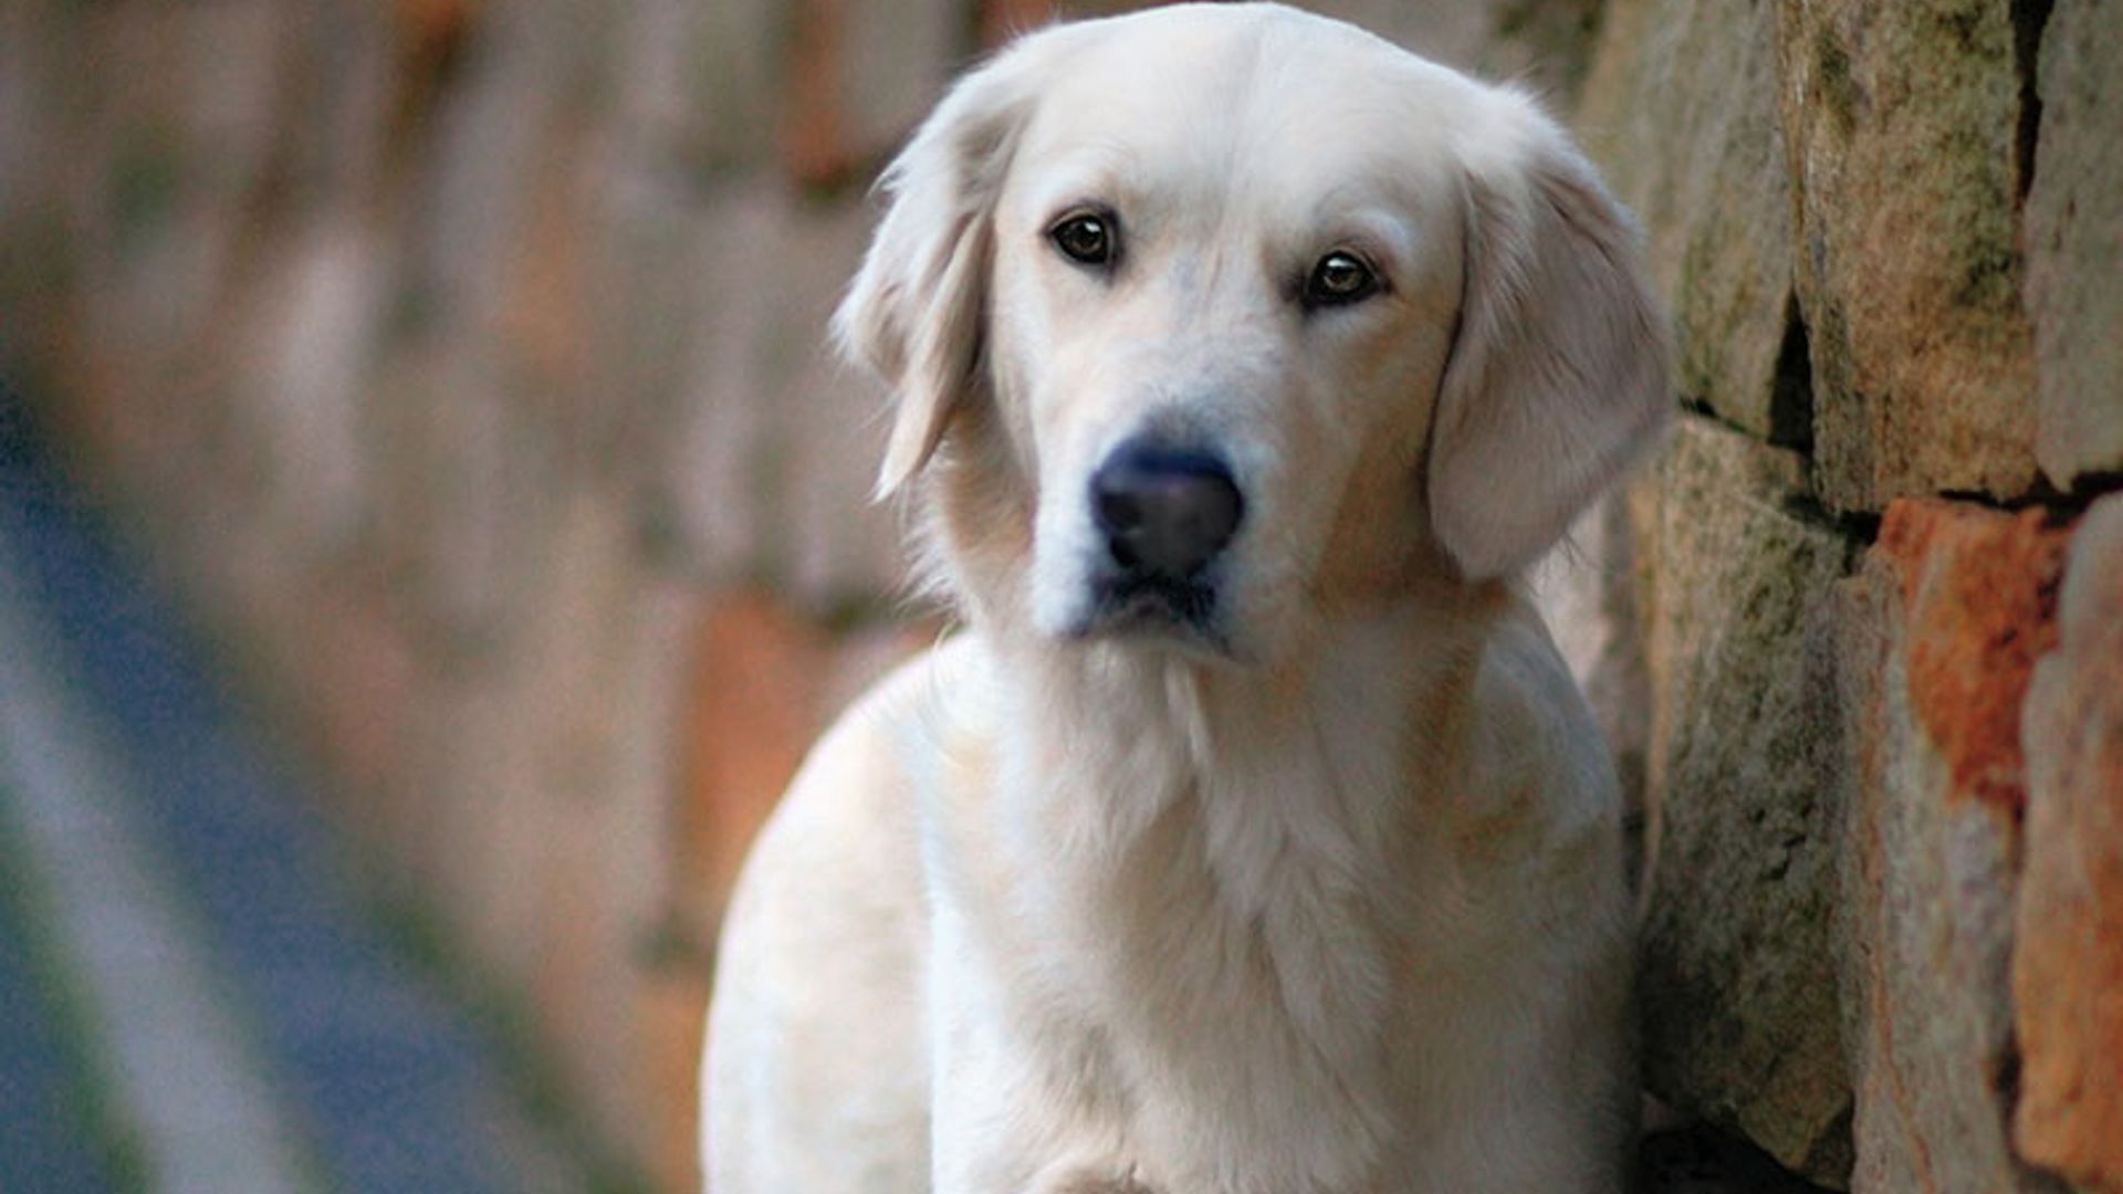
<path fill-rule="evenodd" d="M 1577 110 L 1686 408 L 1647 1079 L 1822 1186 L 2123 1190 L 2117 70 L 2112 0 L 1611 0 Z"/>

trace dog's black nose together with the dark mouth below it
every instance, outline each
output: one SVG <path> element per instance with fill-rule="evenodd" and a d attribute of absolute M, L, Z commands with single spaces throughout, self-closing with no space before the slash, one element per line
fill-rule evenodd
<path fill-rule="evenodd" d="M 1127 440 L 1091 474 L 1091 518 L 1106 542 L 1098 622 L 1180 625 L 1214 635 L 1214 563 L 1246 501 L 1212 453 Z"/>

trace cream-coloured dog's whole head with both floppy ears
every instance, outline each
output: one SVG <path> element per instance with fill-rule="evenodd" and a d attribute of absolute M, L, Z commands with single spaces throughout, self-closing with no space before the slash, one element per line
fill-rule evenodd
<path fill-rule="evenodd" d="M 1654 438 L 1635 234 L 1524 96 L 1272 4 L 1059 25 L 885 176 L 841 306 L 974 618 L 1272 659 L 1509 576 Z"/>

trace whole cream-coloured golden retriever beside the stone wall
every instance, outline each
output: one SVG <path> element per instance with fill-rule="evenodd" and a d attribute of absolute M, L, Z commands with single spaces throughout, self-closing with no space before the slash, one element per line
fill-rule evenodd
<path fill-rule="evenodd" d="M 1276 4 L 1053 25 L 834 317 L 962 631 L 732 897 L 715 1194 L 1616 1192 L 1620 799 L 1522 574 L 1658 438 L 1520 91 Z"/>

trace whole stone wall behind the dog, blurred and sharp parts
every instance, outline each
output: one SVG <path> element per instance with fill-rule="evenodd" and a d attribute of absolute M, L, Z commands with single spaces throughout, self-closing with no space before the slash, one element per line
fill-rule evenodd
<path fill-rule="evenodd" d="M 1684 425 L 1543 578 L 1652 809 L 1658 1096 L 2123 1190 L 2123 6 L 1321 6 L 1575 115 L 1673 304 Z M 0 11 L 0 368 L 669 1190 L 743 841 L 934 633 L 819 346 L 864 185 L 1045 11 Z"/>

